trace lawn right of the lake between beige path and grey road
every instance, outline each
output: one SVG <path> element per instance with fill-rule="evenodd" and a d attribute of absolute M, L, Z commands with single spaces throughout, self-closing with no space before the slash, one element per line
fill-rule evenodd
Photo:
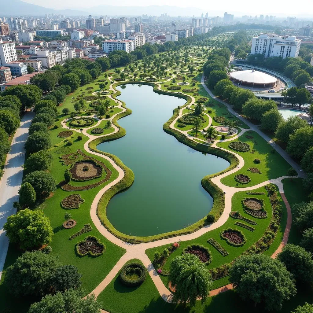
<path fill-rule="evenodd" d="M 287 171 L 290 168 L 290 164 L 287 161 L 285 161 L 285 159 L 277 151 L 272 153 L 273 148 L 270 146 L 270 144 L 267 143 L 256 132 L 253 131 L 249 133 L 249 136 L 254 137 L 253 139 L 246 138 L 246 135 L 247 133 L 241 135 L 238 139 L 236 139 L 236 141 L 243 141 L 248 143 L 251 147 L 250 151 L 255 150 L 255 152 L 250 153 L 250 151 L 247 152 L 234 151 L 235 153 L 239 154 L 244 158 L 244 166 L 238 172 L 222 178 L 221 182 L 227 186 L 232 187 L 248 187 L 257 185 L 260 182 L 265 182 L 269 179 L 286 176 Z M 217 146 L 233 151 L 232 149 L 228 148 L 228 144 L 229 141 L 219 142 L 217 143 Z M 256 158 L 260 159 L 261 163 L 255 164 L 253 161 Z M 252 173 L 248 171 L 249 167 L 258 168 L 262 172 L 262 174 Z M 251 178 L 251 182 L 247 184 L 240 184 L 236 182 L 234 176 L 239 173 L 248 175 Z"/>

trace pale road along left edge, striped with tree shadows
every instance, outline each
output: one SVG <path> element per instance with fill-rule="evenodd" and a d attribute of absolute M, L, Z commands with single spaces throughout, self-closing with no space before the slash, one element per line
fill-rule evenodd
<path fill-rule="evenodd" d="M 18 201 L 18 190 L 22 184 L 23 165 L 25 162 L 24 145 L 28 137 L 28 128 L 33 119 L 33 112 L 27 112 L 21 126 L 16 130 L 11 143 L 11 150 L 4 165 L 4 174 L 0 181 L 0 280 L 5 258 L 8 252 L 9 239 L 5 235 L 3 225 L 7 217 L 15 214 L 13 202 Z"/>

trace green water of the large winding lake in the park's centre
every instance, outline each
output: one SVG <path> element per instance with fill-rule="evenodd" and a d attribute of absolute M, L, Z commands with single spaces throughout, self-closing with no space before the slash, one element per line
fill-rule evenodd
<path fill-rule="evenodd" d="M 229 162 L 204 155 L 163 131 L 163 124 L 184 99 L 159 95 L 147 85 L 125 85 L 119 99 L 132 114 L 118 121 L 126 136 L 97 149 L 118 156 L 135 174 L 130 188 L 115 195 L 106 214 L 112 225 L 132 236 L 150 236 L 184 228 L 206 216 L 213 199 L 201 179 Z"/>

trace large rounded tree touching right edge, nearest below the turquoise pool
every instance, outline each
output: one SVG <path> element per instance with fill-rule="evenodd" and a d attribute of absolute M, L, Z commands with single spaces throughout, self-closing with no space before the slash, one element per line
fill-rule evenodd
<path fill-rule="evenodd" d="M 289 136 L 286 151 L 290 156 L 300 159 L 310 146 L 313 146 L 313 127 L 305 126 Z"/>

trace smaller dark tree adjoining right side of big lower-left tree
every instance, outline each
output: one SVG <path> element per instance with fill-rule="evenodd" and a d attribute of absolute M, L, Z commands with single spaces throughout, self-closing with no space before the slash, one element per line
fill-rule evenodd
<path fill-rule="evenodd" d="M 69 214 L 69 213 L 67 213 Z M 59 266 L 51 278 L 51 285 L 55 291 L 64 292 L 69 289 L 77 289 L 81 285 L 80 278 L 83 277 L 74 265 Z"/>

